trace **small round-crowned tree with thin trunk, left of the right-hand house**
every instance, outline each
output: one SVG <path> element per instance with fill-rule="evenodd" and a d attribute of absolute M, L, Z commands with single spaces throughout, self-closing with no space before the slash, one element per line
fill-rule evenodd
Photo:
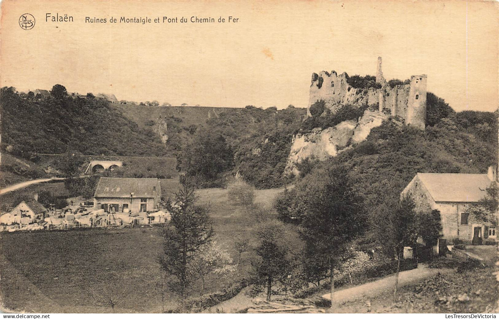
<path fill-rule="evenodd" d="M 415 246 L 418 239 L 418 217 L 414 200 L 403 196 L 400 200 L 387 200 L 385 205 L 378 206 L 374 223 L 377 244 L 385 253 L 397 259 L 395 288 L 393 298 L 397 298 L 400 261 L 404 257 L 404 247 Z"/>

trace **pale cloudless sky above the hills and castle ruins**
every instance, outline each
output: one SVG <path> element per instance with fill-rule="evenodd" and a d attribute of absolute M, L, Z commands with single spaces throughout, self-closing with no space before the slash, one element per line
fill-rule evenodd
<path fill-rule="evenodd" d="M 381 56 L 387 80 L 427 74 L 428 91 L 457 111 L 499 105 L 498 2 L 74 2 L 1 2 L 1 86 L 62 84 L 173 105 L 306 107 L 312 72 L 375 75 Z M 35 17 L 29 30 L 19 26 L 24 13 Z M 47 13 L 73 21 L 46 21 Z M 109 23 L 111 16 L 118 22 Z M 119 23 L 121 16 L 153 21 Z M 239 20 L 180 22 L 191 16 Z"/>

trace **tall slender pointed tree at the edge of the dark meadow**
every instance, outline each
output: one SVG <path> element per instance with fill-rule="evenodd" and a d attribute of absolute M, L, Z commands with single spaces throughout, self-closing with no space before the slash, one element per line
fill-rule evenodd
<path fill-rule="evenodd" d="M 196 205 L 196 200 L 192 183 L 183 179 L 175 201 L 166 203 L 171 220 L 163 231 L 163 254 L 159 257 L 159 263 L 168 275 L 176 279 L 169 279 L 168 284 L 183 299 L 197 279 L 191 271 L 194 263 L 213 236 L 208 209 Z"/>

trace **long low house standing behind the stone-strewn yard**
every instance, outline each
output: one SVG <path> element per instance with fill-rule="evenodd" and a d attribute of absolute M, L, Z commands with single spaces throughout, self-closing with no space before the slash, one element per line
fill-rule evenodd
<path fill-rule="evenodd" d="M 100 177 L 94 193 L 94 208 L 104 211 L 145 212 L 159 208 L 158 178 Z"/>

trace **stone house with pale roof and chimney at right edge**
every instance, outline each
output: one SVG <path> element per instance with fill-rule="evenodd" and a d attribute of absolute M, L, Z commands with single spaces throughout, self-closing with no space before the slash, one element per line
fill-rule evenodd
<path fill-rule="evenodd" d="M 483 199 L 493 182 L 497 176 L 492 167 L 487 174 L 417 173 L 401 194 L 410 195 L 418 211 L 440 211 L 440 247 L 452 245 L 454 239 L 482 244 L 496 241 L 497 229 L 478 220 L 467 208 Z"/>

